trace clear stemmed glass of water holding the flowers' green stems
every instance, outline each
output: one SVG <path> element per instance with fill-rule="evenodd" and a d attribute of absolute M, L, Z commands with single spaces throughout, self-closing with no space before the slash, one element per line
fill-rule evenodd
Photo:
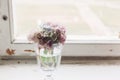
<path fill-rule="evenodd" d="M 37 48 L 37 61 L 40 69 L 45 72 L 44 80 L 54 80 L 53 71 L 61 62 L 61 44 L 53 44 L 51 48 Z"/>

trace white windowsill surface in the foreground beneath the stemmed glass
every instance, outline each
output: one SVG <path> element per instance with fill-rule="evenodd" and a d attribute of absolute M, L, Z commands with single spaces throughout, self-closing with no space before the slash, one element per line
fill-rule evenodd
<path fill-rule="evenodd" d="M 54 80 L 120 80 L 120 65 L 62 64 Z M 43 80 L 37 64 L 0 65 L 0 80 Z"/>

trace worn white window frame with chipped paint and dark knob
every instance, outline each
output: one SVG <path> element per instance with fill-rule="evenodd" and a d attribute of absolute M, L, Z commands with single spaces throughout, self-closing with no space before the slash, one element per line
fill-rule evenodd
<path fill-rule="evenodd" d="M 6 15 L 8 19 L 2 19 Z M 0 55 L 35 56 L 34 44 L 13 38 L 11 0 L 0 0 Z M 13 50 L 13 52 L 12 52 Z M 10 53 L 10 54 L 9 54 Z M 120 40 L 67 40 L 63 56 L 120 56 Z"/>

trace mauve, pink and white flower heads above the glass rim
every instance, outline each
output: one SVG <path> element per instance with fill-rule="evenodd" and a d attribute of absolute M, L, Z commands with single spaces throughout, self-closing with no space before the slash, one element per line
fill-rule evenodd
<path fill-rule="evenodd" d="M 40 47 L 51 48 L 53 44 L 64 44 L 66 40 L 65 28 L 53 23 L 44 23 L 29 34 L 28 40 L 38 43 Z"/>

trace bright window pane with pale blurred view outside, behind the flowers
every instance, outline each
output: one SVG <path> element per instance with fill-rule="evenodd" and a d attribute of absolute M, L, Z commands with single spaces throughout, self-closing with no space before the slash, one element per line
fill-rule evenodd
<path fill-rule="evenodd" d="M 26 36 L 38 20 L 63 24 L 67 35 L 118 39 L 120 0 L 12 0 L 14 35 Z"/>

